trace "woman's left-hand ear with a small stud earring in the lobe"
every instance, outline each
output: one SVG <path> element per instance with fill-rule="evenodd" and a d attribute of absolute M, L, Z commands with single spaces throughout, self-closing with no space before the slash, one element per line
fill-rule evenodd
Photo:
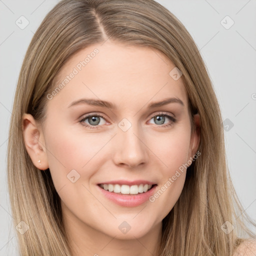
<path fill-rule="evenodd" d="M 43 133 L 31 114 L 22 115 L 22 134 L 26 151 L 35 167 L 41 170 L 47 169 L 49 166 Z"/>

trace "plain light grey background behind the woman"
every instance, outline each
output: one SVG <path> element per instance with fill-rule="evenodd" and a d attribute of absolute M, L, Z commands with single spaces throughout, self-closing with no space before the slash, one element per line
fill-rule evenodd
<path fill-rule="evenodd" d="M 228 166 L 242 205 L 255 220 L 256 0 L 158 2 L 176 15 L 192 35 L 213 82 L 222 118 L 233 123 L 225 131 Z M 8 125 L 15 86 L 33 32 L 55 3 L 57 0 L 0 0 L 0 255 L 17 255 L 6 179 Z M 21 23 L 21 15 L 29 21 L 24 29 L 15 23 Z M 223 26 L 231 24 L 231 19 L 224 18 L 226 15 L 234 21 L 229 29 Z"/>

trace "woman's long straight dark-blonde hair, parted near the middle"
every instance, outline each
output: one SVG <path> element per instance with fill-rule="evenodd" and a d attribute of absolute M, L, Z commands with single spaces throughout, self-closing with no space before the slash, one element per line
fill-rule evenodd
<path fill-rule="evenodd" d="M 71 255 L 49 170 L 37 169 L 25 149 L 22 114 L 43 122 L 46 95 L 63 64 L 78 50 L 107 39 L 163 52 L 182 72 L 191 116 L 200 115 L 201 155 L 188 167 L 182 193 L 163 219 L 159 255 L 231 256 L 243 238 L 255 238 L 247 223 L 255 224 L 230 180 L 218 101 L 192 37 L 153 0 L 62 0 L 36 30 L 20 70 L 8 141 L 14 224 L 29 226 L 24 234 L 17 232 L 20 254 Z M 221 228 L 226 221 L 234 227 L 230 232 Z"/>

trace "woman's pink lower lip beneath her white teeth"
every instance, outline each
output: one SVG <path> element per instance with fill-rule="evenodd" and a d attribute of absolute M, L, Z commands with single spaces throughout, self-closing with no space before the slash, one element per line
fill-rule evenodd
<path fill-rule="evenodd" d="M 100 191 L 106 198 L 120 206 L 125 207 L 135 207 L 144 203 L 145 201 L 148 200 L 148 198 L 154 193 L 156 189 L 156 185 L 153 185 L 152 188 L 147 190 L 146 192 L 131 195 L 109 192 L 108 190 L 103 189 L 99 185 L 97 185 L 97 187 L 100 189 Z"/>

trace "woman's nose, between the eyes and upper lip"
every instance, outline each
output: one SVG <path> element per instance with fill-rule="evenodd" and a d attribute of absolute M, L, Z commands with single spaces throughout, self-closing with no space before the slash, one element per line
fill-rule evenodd
<path fill-rule="evenodd" d="M 144 140 L 136 125 L 131 125 L 126 131 L 118 128 L 114 141 L 114 163 L 129 168 L 145 164 L 148 160 L 148 149 Z"/>

